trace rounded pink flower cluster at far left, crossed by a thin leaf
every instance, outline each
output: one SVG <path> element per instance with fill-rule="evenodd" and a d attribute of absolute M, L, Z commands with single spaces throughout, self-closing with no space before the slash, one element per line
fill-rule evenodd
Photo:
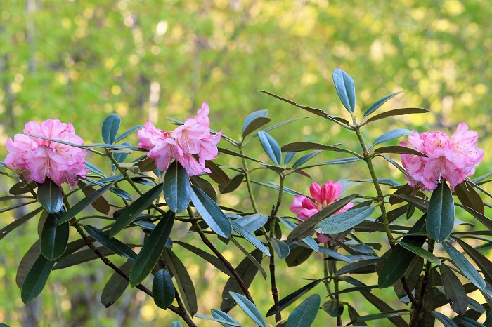
<path fill-rule="evenodd" d="M 65 124 L 58 119 L 48 119 L 41 124 L 30 121 L 25 124 L 24 133 L 76 145 L 84 144 L 84 140 L 75 135 L 71 123 Z M 6 146 L 9 153 L 5 164 L 19 172 L 29 171 L 23 173 L 27 182 L 34 180 L 43 183 L 46 178 L 50 178 L 56 185 L 67 182 L 75 186 L 78 177 L 84 177 L 88 172 L 85 166 L 86 150 L 72 145 L 15 134 L 13 140 L 8 139 Z"/>

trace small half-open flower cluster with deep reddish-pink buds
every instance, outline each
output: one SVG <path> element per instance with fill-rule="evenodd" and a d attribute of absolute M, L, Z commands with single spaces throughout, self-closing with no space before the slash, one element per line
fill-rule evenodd
<path fill-rule="evenodd" d="M 325 182 L 325 185 L 319 186 L 314 182 L 311 184 L 311 187 L 309 187 L 309 192 L 311 192 L 311 197 L 314 201 L 309 199 L 307 196 L 297 195 L 294 196 L 294 201 L 290 205 L 290 211 L 295 213 L 301 220 L 306 220 L 311 217 L 311 215 L 314 215 L 321 209 L 337 201 L 338 196 L 342 194 L 342 184 L 328 180 L 328 182 Z M 348 203 L 337 211 L 335 215 L 337 213 L 344 213 L 353 206 L 353 203 Z M 328 241 L 330 241 L 327 236 L 318 232 L 316 233 L 316 236 L 318 236 L 318 241 L 321 243 L 328 243 Z"/>

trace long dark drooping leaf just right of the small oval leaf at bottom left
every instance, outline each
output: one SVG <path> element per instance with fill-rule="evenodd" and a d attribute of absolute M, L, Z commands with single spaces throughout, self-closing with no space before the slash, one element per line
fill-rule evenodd
<path fill-rule="evenodd" d="M 174 254 L 169 248 L 164 248 L 164 261 L 171 270 L 174 279 L 176 279 L 176 284 L 178 285 L 179 295 L 181 295 L 181 300 L 186 307 L 186 310 L 191 316 L 197 313 L 197 295 L 195 293 L 195 286 L 193 286 L 193 281 L 188 274 L 188 270 L 183 265 L 183 262 Z"/>

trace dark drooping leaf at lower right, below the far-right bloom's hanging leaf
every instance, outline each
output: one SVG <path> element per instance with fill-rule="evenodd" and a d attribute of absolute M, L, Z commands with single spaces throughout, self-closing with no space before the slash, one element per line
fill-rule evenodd
<path fill-rule="evenodd" d="M 439 270 L 441 271 L 444 292 L 451 309 L 457 314 L 465 314 L 468 307 L 468 298 L 460 279 L 446 265 L 441 265 Z"/>

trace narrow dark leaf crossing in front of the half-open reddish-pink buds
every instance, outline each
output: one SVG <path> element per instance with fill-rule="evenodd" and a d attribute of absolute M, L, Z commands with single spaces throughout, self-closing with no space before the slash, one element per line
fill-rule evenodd
<path fill-rule="evenodd" d="M 287 236 L 287 242 L 290 243 L 294 241 L 299 241 L 304 239 L 306 236 L 311 236 L 314 233 L 314 227 L 316 226 L 316 224 L 318 224 L 318 222 L 321 222 L 321 220 L 329 217 L 333 213 L 336 213 L 357 196 L 358 194 L 351 194 L 344 197 L 343 199 L 339 199 L 338 201 L 335 201 L 329 206 L 321 209 L 310 218 L 304 220 L 304 222 L 301 222 L 292 230 L 292 232 L 290 232 L 289 236 Z"/>

